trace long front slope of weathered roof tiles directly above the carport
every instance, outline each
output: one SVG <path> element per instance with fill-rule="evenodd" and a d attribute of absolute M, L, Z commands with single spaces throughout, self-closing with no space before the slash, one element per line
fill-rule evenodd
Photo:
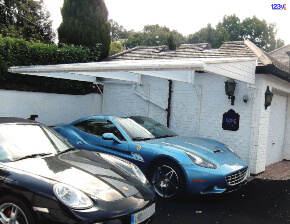
<path fill-rule="evenodd" d="M 146 60 L 146 59 L 180 59 L 180 58 L 237 58 L 256 57 L 244 41 L 225 42 L 219 49 L 211 49 L 210 44 L 182 44 L 175 51 L 167 46 L 135 47 L 113 55 L 106 61 Z"/>

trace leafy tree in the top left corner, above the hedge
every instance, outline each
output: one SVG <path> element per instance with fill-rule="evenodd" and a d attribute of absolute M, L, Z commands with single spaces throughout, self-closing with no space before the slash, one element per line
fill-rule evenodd
<path fill-rule="evenodd" d="M 43 0 L 0 0 L 0 33 L 3 37 L 42 43 L 52 43 L 55 39 Z"/>

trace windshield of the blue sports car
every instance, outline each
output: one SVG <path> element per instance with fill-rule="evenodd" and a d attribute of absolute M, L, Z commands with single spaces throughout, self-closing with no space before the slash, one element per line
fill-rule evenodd
<path fill-rule="evenodd" d="M 133 141 L 177 136 L 169 128 L 148 117 L 118 117 L 115 121 Z"/>

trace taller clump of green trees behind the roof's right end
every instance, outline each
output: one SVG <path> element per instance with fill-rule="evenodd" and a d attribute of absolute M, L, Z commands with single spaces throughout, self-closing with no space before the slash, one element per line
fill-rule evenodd
<path fill-rule="evenodd" d="M 244 21 L 234 14 L 224 16 L 223 21 L 216 28 L 207 27 L 200 29 L 187 37 L 187 43 L 210 43 L 213 48 L 219 48 L 225 41 L 250 40 L 259 48 L 270 52 L 284 45 L 281 39 L 276 40 L 276 24 L 267 24 L 256 16 L 246 18 Z"/>

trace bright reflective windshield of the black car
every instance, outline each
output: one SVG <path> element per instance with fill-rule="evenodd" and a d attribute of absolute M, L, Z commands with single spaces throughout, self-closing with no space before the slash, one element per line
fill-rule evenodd
<path fill-rule="evenodd" d="M 56 154 L 73 148 L 55 131 L 39 124 L 1 124 L 0 162 Z"/>

